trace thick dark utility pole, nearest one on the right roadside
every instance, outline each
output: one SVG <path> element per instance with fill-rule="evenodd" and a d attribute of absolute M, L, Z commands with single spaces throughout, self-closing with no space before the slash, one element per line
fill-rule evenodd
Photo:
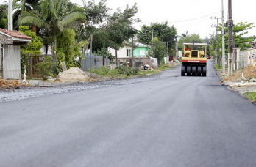
<path fill-rule="evenodd" d="M 229 75 L 232 75 L 233 68 L 232 68 L 232 51 L 233 51 L 233 21 L 232 21 L 232 0 L 228 1 L 228 35 L 229 35 L 229 45 L 228 45 L 228 52 L 229 52 L 229 58 L 228 58 L 228 73 Z"/>

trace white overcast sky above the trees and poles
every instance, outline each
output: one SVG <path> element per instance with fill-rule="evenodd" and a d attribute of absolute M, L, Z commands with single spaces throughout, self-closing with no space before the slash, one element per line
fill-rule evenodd
<path fill-rule="evenodd" d="M 82 0 L 71 0 L 82 4 Z M 99 0 L 95 0 L 96 3 Z M 163 23 L 168 21 L 168 25 L 177 29 L 178 35 L 185 31 L 188 34 L 199 34 L 201 38 L 210 37 L 216 29 L 211 27 L 217 24 L 217 20 L 210 17 L 221 18 L 221 0 L 107 0 L 107 7 L 115 11 L 118 7 L 122 10 L 127 4 L 132 6 L 138 4 L 136 18 L 141 19 L 141 23 L 135 25 L 136 29 L 141 29 L 145 24 Z M 228 0 L 223 0 L 224 22 L 227 21 Z M 239 22 L 256 22 L 256 1 L 255 0 L 232 0 L 233 20 Z M 218 20 L 221 23 L 221 19 Z M 256 24 L 256 23 L 255 23 Z M 256 26 L 256 25 L 255 25 Z M 246 36 L 256 36 L 256 28 L 250 29 Z"/>

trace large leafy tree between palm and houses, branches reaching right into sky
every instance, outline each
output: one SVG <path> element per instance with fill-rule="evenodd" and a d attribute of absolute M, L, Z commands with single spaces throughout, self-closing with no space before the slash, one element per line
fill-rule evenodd
<path fill-rule="evenodd" d="M 129 7 L 127 5 L 124 11 L 118 9 L 113 15 L 109 15 L 107 23 L 100 24 L 99 28 L 90 27 L 88 29 L 87 41 L 90 43 L 93 36 L 93 52 L 101 51 L 102 48 L 114 48 L 118 50 L 123 47 L 124 40 L 129 40 L 136 33 L 132 24 L 139 21 L 135 17 L 138 12 L 137 4 Z M 92 36 L 91 36 L 92 35 Z M 88 45 L 84 46 L 84 50 L 88 48 Z"/>

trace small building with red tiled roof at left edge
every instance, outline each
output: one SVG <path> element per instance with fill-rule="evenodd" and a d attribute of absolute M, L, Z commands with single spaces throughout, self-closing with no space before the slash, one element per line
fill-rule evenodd
<path fill-rule="evenodd" d="M 21 45 L 29 45 L 31 37 L 20 31 L 0 29 L 0 77 L 21 78 Z"/>

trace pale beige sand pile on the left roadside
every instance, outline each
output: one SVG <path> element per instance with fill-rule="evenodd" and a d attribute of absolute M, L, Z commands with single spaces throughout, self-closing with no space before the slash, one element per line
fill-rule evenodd
<path fill-rule="evenodd" d="M 99 75 L 93 75 L 92 73 L 83 72 L 77 67 L 73 67 L 64 72 L 60 72 L 59 78 L 63 82 L 88 82 L 102 80 L 102 77 L 100 77 Z"/>

